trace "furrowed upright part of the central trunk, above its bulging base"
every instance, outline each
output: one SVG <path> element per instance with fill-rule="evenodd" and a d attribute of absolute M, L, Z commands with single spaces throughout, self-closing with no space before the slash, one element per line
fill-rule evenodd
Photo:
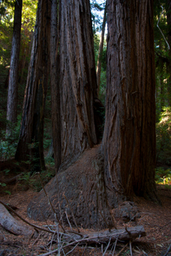
<path fill-rule="evenodd" d="M 70 162 L 97 143 L 97 81 L 89 1 L 63 0 L 60 13 L 62 162 Z"/>

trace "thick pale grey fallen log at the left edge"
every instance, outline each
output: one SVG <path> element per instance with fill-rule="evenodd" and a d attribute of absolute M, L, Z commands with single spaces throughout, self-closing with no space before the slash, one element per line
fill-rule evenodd
<path fill-rule="evenodd" d="M 12 234 L 31 235 L 33 229 L 15 219 L 0 203 L 0 224 Z"/>

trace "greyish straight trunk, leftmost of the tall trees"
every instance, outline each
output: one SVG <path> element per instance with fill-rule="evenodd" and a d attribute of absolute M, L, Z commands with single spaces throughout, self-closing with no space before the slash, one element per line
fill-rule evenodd
<path fill-rule="evenodd" d="M 18 108 L 18 66 L 20 54 L 20 38 L 21 38 L 21 23 L 22 23 L 22 0 L 15 1 L 14 10 L 14 32 L 12 39 L 12 50 L 10 57 L 10 76 L 7 98 L 7 113 L 6 119 L 12 124 L 17 122 Z M 11 134 L 12 127 L 6 127 L 7 134 Z"/>

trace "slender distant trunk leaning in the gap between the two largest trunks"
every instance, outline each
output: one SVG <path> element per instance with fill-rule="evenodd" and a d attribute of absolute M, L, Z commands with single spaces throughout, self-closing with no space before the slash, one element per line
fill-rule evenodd
<path fill-rule="evenodd" d="M 104 44 L 104 37 L 105 37 L 105 23 L 106 23 L 106 10 L 107 10 L 107 0 L 105 2 L 105 11 L 103 17 L 103 24 L 101 30 L 101 40 L 98 50 L 98 58 L 97 58 L 97 95 L 99 96 L 100 92 L 100 83 L 101 83 L 101 56 L 103 52 L 103 44 Z"/>

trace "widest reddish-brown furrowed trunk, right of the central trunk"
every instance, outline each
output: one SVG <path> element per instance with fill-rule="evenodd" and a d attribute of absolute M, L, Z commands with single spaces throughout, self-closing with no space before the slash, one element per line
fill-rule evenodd
<path fill-rule="evenodd" d="M 156 200 L 153 2 L 108 0 L 105 182 L 111 204 Z M 111 191 L 110 191 L 111 192 Z"/>

